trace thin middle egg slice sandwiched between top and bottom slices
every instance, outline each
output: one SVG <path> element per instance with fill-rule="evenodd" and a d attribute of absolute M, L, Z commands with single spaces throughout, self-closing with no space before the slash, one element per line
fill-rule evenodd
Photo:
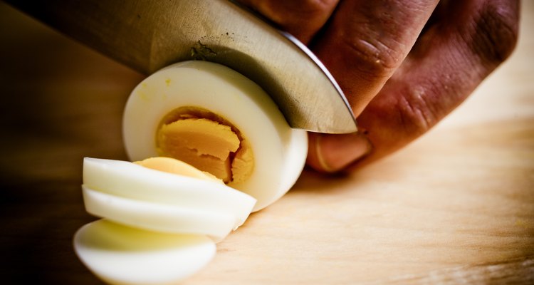
<path fill-rule="evenodd" d="M 236 228 L 236 218 L 228 212 L 128 199 L 85 186 L 83 202 L 96 217 L 155 232 L 206 234 L 219 242 Z"/>

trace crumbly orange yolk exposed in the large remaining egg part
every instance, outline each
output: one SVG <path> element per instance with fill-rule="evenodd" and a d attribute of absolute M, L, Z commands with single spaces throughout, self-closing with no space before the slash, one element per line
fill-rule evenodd
<path fill-rule="evenodd" d="M 202 108 L 167 114 L 157 128 L 156 146 L 159 156 L 182 160 L 226 184 L 246 180 L 254 167 L 251 147 L 239 130 Z"/>

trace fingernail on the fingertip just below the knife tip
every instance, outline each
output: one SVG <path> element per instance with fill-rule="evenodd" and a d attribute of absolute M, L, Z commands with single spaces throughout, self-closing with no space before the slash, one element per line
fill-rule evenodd
<path fill-rule="evenodd" d="M 371 143 L 360 133 L 319 135 L 315 147 L 323 170 L 337 172 L 367 155 Z"/>

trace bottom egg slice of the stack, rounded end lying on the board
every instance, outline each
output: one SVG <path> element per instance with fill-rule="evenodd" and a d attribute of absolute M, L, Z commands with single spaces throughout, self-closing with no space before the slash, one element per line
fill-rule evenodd
<path fill-rule="evenodd" d="M 74 249 L 109 284 L 176 284 L 211 261 L 216 247 L 195 234 L 164 234 L 100 219 L 78 229 Z"/>

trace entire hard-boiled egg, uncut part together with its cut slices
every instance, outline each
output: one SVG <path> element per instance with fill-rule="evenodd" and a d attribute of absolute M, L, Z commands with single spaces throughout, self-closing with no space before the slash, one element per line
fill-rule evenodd
<path fill-rule="evenodd" d="M 214 242 L 293 186 L 308 152 L 305 131 L 290 128 L 259 86 L 204 61 L 142 81 L 123 123 L 127 154 L 142 161 L 85 158 L 85 208 L 105 219 L 74 241 L 112 284 L 167 284 L 197 271 Z"/>

